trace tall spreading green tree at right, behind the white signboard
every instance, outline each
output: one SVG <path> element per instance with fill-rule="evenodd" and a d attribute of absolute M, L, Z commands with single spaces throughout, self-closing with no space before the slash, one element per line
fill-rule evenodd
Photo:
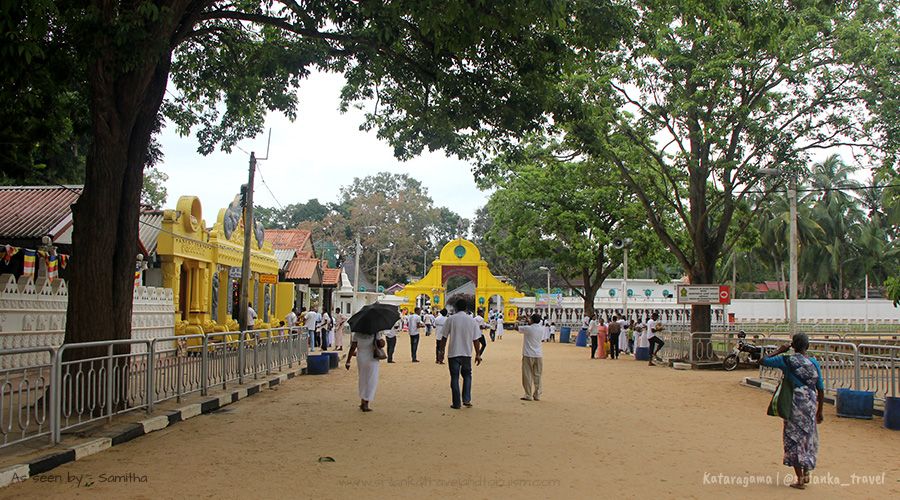
<path fill-rule="evenodd" d="M 896 78 L 891 49 L 879 44 L 894 36 L 886 32 L 895 29 L 895 7 L 630 5 L 633 36 L 612 50 L 568 34 L 575 54 L 548 111 L 574 153 L 618 166 L 691 282 L 715 282 L 719 259 L 739 240 L 733 224 L 760 168 L 787 178 L 811 153 L 836 146 L 873 162 L 894 158 L 895 111 L 883 103 L 896 102 L 896 83 L 884 84 Z M 666 225 L 664 214 L 679 224 Z M 709 308 L 695 306 L 692 329 L 709 324 Z"/>

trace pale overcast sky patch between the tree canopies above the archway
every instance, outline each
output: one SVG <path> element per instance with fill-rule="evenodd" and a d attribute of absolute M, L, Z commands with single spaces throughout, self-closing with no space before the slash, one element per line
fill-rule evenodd
<path fill-rule="evenodd" d="M 489 193 L 475 187 L 471 165 L 441 152 L 424 153 L 407 162 L 395 159 L 391 147 L 378 140 L 374 132 L 359 130 L 362 111 L 338 111 L 342 84 L 341 75 L 313 73 L 300 88 L 296 121 L 280 114 L 268 117 L 272 146 L 269 159 L 259 162 L 259 170 L 272 194 L 257 176 L 254 204 L 278 206 L 275 199 L 282 205 L 311 198 L 322 203 L 337 201 L 340 187 L 354 177 L 386 171 L 406 173 L 422 181 L 436 206 L 473 218 Z M 169 198 L 164 208 L 174 208 L 179 196 L 196 195 L 211 226 L 218 210 L 247 182 L 248 155 L 235 149 L 231 154 L 217 151 L 202 156 L 197 153 L 196 138 L 180 137 L 174 127 L 163 131 L 160 142 L 165 154 L 160 170 L 169 175 Z M 266 135 L 242 141 L 240 146 L 262 157 Z"/>

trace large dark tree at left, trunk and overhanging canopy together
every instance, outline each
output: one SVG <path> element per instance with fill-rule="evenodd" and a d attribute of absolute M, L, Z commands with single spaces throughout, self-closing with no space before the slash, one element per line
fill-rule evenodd
<path fill-rule="evenodd" d="M 70 117 L 67 111 L 82 103 L 87 109 L 90 142 L 83 152 L 84 192 L 73 208 L 78 257 L 70 269 L 67 341 L 130 336 L 135 221 L 161 112 L 181 132 L 196 130 L 202 153 L 217 146 L 229 151 L 262 130 L 268 111 L 294 118 L 300 81 L 311 68 L 325 68 L 347 76 L 345 105 L 371 97 L 378 103 L 372 116 L 389 110 L 403 118 L 403 123 L 375 121 L 396 139 L 398 156 L 409 156 L 420 149 L 423 136 L 429 147 L 442 146 L 452 142 L 452 131 L 488 115 L 518 124 L 540 114 L 539 106 L 527 104 L 558 73 L 554 51 L 562 45 L 555 29 L 565 5 L 524 0 L 0 3 L 4 106 L 22 103 L 3 123 L 34 123 L 38 129 L 10 139 L 26 143 L 10 155 L 10 163 L 39 164 L 39 158 L 29 157 L 33 144 L 47 147 L 42 156 L 55 152 L 41 139 L 57 137 L 66 127 L 53 125 L 48 133 L 35 117 L 68 120 L 74 131 L 81 115 Z M 40 71 L 25 75 L 31 68 Z M 415 98 L 399 97 L 398 89 Z M 73 141 L 59 137 L 71 151 Z M 72 137 L 80 136 L 73 132 Z M 404 142 L 413 146 L 403 148 Z M 105 313 L 94 314 L 97 310 Z"/>

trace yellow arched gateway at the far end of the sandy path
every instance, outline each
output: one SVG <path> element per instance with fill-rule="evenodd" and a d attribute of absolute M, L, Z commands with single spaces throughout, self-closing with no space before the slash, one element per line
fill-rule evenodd
<path fill-rule="evenodd" d="M 396 293 L 407 299 L 400 307 L 413 310 L 416 307 L 416 299 L 421 295 L 431 297 L 432 304 L 443 307 L 447 280 L 454 276 L 463 276 L 475 283 L 475 305 L 485 309 L 485 319 L 491 297 L 499 295 L 503 299 L 503 320 L 509 323 L 516 321 L 516 307 L 510 300 L 524 297 L 525 294 L 491 274 L 487 262 L 481 259 L 478 247 L 462 238 L 451 240 L 444 245 L 440 257 L 432 261 L 431 269 L 424 278 L 406 285 L 403 290 Z"/>

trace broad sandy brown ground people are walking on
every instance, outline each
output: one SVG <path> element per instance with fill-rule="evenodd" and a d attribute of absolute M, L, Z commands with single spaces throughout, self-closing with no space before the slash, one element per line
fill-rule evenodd
<path fill-rule="evenodd" d="M 475 369 L 474 408 L 451 410 L 433 339 L 422 337 L 418 364 L 400 339 L 371 413 L 357 408 L 355 366 L 300 377 L 0 497 L 900 497 L 900 434 L 828 405 L 820 484 L 787 488 L 781 421 L 765 415 L 769 396 L 738 385 L 750 372 L 590 360 L 545 344 L 544 398 L 524 402 L 513 332 Z"/>

